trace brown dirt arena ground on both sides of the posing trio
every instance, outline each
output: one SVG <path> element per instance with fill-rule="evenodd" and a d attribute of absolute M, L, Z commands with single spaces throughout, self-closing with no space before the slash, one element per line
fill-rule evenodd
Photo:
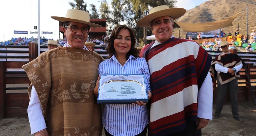
<path fill-rule="evenodd" d="M 238 102 L 242 122 L 232 117 L 229 103 L 223 106 L 221 117 L 213 118 L 202 136 L 256 136 L 256 105 L 254 101 Z M 213 105 L 213 115 L 215 105 Z M 0 119 L 0 136 L 31 136 L 27 117 Z M 102 136 L 105 136 L 103 133 Z"/>

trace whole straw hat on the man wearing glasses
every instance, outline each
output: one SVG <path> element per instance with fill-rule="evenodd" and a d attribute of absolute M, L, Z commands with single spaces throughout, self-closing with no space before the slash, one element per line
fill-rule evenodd
<path fill-rule="evenodd" d="M 51 16 L 52 19 L 58 20 L 60 22 L 78 22 L 83 24 L 88 24 L 90 27 L 102 27 L 99 24 L 90 23 L 90 14 L 85 11 L 78 9 L 68 9 L 66 17 Z"/>

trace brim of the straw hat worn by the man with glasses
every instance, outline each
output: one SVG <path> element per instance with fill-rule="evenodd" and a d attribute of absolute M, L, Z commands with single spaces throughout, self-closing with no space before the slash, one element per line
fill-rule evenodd
<path fill-rule="evenodd" d="M 94 24 L 91 22 L 86 22 L 83 20 L 79 20 L 79 19 L 71 19 L 71 18 L 64 18 L 64 17 L 60 17 L 60 16 L 51 16 L 52 19 L 54 20 L 58 20 L 60 22 L 78 22 L 78 23 L 83 23 L 83 24 L 88 24 L 90 27 L 102 27 L 99 24 Z"/>

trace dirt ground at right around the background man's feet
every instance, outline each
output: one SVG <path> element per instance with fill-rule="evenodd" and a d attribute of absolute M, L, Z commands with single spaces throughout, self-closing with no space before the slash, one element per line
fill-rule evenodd
<path fill-rule="evenodd" d="M 202 129 L 203 136 L 256 136 L 256 105 L 254 101 L 238 102 L 242 122 L 233 118 L 231 105 L 223 106 L 220 118 L 210 120 Z M 213 116 L 215 105 L 213 105 Z"/>

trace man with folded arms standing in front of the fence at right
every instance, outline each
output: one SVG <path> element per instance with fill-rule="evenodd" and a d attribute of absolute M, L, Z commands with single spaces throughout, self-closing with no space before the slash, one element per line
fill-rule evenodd
<path fill-rule="evenodd" d="M 242 68 L 242 60 L 237 54 L 229 52 L 229 44 L 227 41 L 221 43 L 222 53 L 215 57 L 211 63 L 211 71 L 217 75 L 217 101 L 214 118 L 219 118 L 225 100 L 227 89 L 231 101 L 231 109 L 233 117 L 242 121 L 238 114 L 237 94 L 238 82 L 240 77 L 238 71 Z"/>

